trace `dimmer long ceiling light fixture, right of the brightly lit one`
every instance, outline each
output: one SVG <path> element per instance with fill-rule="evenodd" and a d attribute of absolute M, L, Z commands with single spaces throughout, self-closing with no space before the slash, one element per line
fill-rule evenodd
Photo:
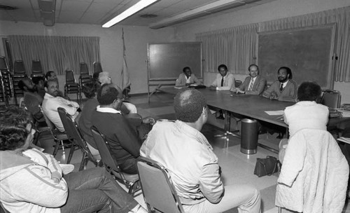
<path fill-rule="evenodd" d="M 199 18 L 204 15 L 209 15 L 212 13 L 217 13 L 218 11 L 224 11 L 229 8 L 234 8 L 237 6 L 241 6 L 245 4 L 245 0 L 218 0 L 214 1 L 210 4 L 206 4 L 204 6 L 200 6 L 190 11 L 186 11 L 184 13 L 180 13 L 178 15 L 174 15 L 170 18 L 165 18 L 164 20 L 160 20 L 159 22 L 155 22 L 149 27 L 151 29 L 158 29 L 161 27 L 167 27 L 169 25 L 174 25 L 179 22 L 184 22 L 186 20 L 191 20 L 194 18 Z"/>

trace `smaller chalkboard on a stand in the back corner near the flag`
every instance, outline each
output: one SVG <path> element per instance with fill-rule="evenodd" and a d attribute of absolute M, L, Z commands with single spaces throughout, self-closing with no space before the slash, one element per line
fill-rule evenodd
<path fill-rule="evenodd" d="M 172 80 L 183 67 L 202 78 L 202 43 L 148 43 L 148 80 Z"/>

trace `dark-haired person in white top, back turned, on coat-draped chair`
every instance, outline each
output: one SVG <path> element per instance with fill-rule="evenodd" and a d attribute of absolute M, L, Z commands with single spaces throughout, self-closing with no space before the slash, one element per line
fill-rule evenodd
<path fill-rule="evenodd" d="M 317 104 L 321 96 L 321 87 L 315 82 L 303 82 L 297 89 L 298 102 L 284 109 L 284 122 L 288 125 L 289 136 L 302 129 L 327 130 L 328 107 Z M 279 160 L 283 162 L 288 139 L 279 143 Z"/>

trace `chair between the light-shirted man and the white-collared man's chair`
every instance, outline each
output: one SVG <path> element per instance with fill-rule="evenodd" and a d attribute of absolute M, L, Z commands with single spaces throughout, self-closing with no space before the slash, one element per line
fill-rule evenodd
<path fill-rule="evenodd" d="M 74 147 L 77 147 L 83 151 L 83 158 L 81 159 L 79 171 L 86 169 L 86 165 L 89 160 L 97 167 L 99 165 L 99 160 L 95 159 L 94 156 L 92 156 L 90 149 L 87 147 L 87 142 L 83 138 L 83 135 L 78 128 L 78 124 L 71 119 L 71 115 L 69 115 L 62 107 L 58 107 L 57 111 L 59 118 L 61 118 L 61 121 L 63 123 L 64 130 L 66 130 L 66 135 L 68 136 L 69 141 L 72 144 L 76 144 Z M 73 147 L 69 152 L 70 157 L 73 156 L 72 150 L 74 151 Z"/>

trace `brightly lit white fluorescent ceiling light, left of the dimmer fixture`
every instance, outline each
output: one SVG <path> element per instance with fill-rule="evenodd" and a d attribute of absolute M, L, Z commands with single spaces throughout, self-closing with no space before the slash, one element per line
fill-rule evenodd
<path fill-rule="evenodd" d="M 155 1 L 159 0 L 141 0 L 137 2 L 137 4 L 134 4 L 130 8 L 127 8 L 127 10 L 123 13 L 120 13 L 115 18 L 112 18 L 111 20 L 106 22 L 104 25 L 102 25 L 102 27 L 112 27 L 113 25 L 116 25 L 116 23 L 125 20 L 125 18 L 128 18 L 130 15 L 133 15 L 134 13 L 137 13 L 142 9 L 146 8 L 147 6 L 150 6 L 151 4 L 155 3 Z"/>

